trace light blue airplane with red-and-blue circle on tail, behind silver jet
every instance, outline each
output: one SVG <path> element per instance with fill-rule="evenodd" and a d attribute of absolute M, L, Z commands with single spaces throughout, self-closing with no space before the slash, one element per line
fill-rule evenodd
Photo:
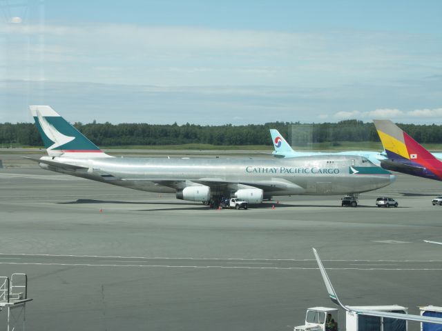
<path fill-rule="evenodd" d="M 272 152 L 272 154 L 276 157 L 283 157 L 283 158 L 289 158 L 289 157 L 316 157 L 318 155 L 329 155 L 329 154 L 336 154 L 336 155 L 358 155 L 359 157 L 365 157 L 366 159 L 369 159 L 372 163 L 375 165 L 380 165 L 381 160 L 387 159 L 385 157 L 384 152 L 372 152 L 368 150 L 349 150 L 345 152 L 297 152 L 296 150 L 293 150 L 289 143 L 282 137 L 282 134 L 276 129 L 270 129 L 271 134 L 271 141 L 273 141 L 273 147 L 275 150 Z"/>

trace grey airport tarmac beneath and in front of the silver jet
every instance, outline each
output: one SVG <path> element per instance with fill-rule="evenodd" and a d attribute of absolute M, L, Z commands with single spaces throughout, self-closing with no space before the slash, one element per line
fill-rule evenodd
<path fill-rule="evenodd" d="M 312 247 L 347 305 L 442 305 L 442 246 L 423 242 L 442 241 L 439 181 L 398 174 L 358 208 L 211 210 L 0 159 L 0 276 L 28 274 L 28 330 L 293 330 L 306 308 L 335 307 Z"/>

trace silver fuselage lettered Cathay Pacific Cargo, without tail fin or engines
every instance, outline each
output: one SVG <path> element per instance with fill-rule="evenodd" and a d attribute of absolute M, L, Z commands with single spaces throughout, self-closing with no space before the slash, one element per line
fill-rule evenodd
<path fill-rule="evenodd" d="M 220 194 L 241 187 L 261 188 L 265 197 L 357 194 L 383 188 L 394 180 L 392 174 L 363 157 L 340 155 L 294 159 L 41 159 L 87 168 L 72 170 L 40 163 L 48 170 L 149 192 L 174 193 L 189 185 L 208 185 L 212 191 L 223 190 Z"/>

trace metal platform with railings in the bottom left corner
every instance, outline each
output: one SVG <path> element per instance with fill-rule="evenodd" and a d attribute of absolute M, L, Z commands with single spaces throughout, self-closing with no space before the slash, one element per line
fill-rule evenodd
<path fill-rule="evenodd" d="M 26 328 L 26 303 L 28 298 L 28 276 L 14 273 L 11 277 L 0 277 L 0 311 L 6 310 L 7 328 L 0 330 L 18 331 Z"/>

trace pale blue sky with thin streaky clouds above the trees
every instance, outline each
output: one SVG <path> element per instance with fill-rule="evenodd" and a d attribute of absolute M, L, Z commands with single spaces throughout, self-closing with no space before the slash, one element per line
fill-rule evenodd
<path fill-rule="evenodd" d="M 23 6 L 23 3 L 26 6 Z M 442 1 L 0 0 L 0 123 L 442 124 Z"/>

